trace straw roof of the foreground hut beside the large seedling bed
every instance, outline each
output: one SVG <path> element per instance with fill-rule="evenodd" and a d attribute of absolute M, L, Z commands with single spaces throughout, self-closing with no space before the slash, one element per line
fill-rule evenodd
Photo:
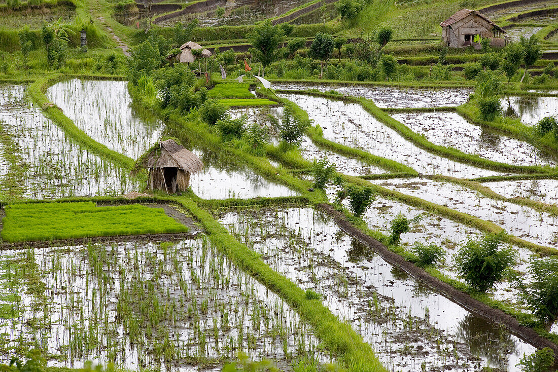
<path fill-rule="evenodd" d="M 159 151 L 160 150 L 160 151 Z M 146 153 L 141 162 L 146 168 L 179 168 L 187 173 L 196 173 L 203 169 L 204 163 L 191 151 L 188 151 L 172 139 L 161 141 Z"/>

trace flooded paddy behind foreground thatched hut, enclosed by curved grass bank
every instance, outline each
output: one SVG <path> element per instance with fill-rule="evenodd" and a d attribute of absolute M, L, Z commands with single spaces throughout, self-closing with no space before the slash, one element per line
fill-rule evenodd
<path fill-rule="evenodd" d="M 137 159 L 160 139 L 163 123 L 132 107 L 127 84 L 73 79 L 52 85 L 46 95 L 89 137 Z"/>

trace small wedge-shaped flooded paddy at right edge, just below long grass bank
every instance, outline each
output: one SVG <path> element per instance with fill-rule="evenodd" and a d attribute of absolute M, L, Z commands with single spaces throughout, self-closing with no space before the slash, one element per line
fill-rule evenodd
<path fill-rule="evenodd" d="M 483 186 L 509 198 L 527 197 L 547 204 L 558 203 L 558 180 L 485 182 Z"/>

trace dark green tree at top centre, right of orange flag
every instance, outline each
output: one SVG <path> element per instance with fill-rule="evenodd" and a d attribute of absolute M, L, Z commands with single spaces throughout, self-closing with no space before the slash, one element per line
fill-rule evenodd
<path fill-rule="evenodd" d="M 273 26 L 270 20 L 254 28 L 254 32 L 249 36 L 253 54 L 263 67 L 262 76 L 266 75 L 266 67 L 277 60 L 279 46 L 284 38 L 283 28 Z"/>

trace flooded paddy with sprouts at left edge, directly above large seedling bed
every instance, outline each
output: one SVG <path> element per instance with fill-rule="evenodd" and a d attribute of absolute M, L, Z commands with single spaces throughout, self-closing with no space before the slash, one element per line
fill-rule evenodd
<path fill-rule="evenodd" d="M 116 196 L 137 189 L 126 171 L 71 142 L 24 95 L 25 86 L 0 85 L 4 195 L 52 199 Z"/>

